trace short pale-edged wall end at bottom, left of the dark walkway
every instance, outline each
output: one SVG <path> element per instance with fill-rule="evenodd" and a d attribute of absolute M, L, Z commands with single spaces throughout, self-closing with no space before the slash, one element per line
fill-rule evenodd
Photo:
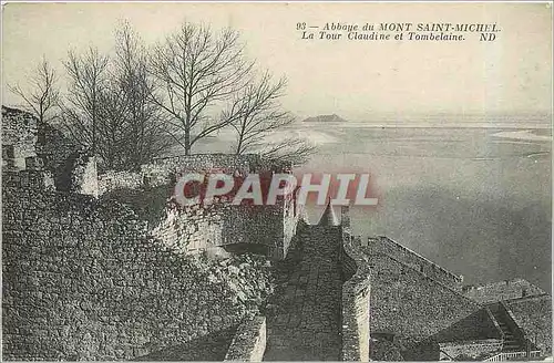
<path fill-rule="evenodd" d="M 225 361 L 261 362 L 266 351 L 266 319 L 255 317 L 238 326 Z"/>

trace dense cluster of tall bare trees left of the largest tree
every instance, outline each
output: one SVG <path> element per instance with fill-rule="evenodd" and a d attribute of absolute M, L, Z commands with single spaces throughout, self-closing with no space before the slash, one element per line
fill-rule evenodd
<path fill-rule="evenodd" d="M 69 53 L 62 104 L 68 134 L 100 157 L 101 168 L 137 169 L 172 144 L 152 102 L 147 52 L 129 23 L 115 31 L 111 59 L 96 49 Z"/>

